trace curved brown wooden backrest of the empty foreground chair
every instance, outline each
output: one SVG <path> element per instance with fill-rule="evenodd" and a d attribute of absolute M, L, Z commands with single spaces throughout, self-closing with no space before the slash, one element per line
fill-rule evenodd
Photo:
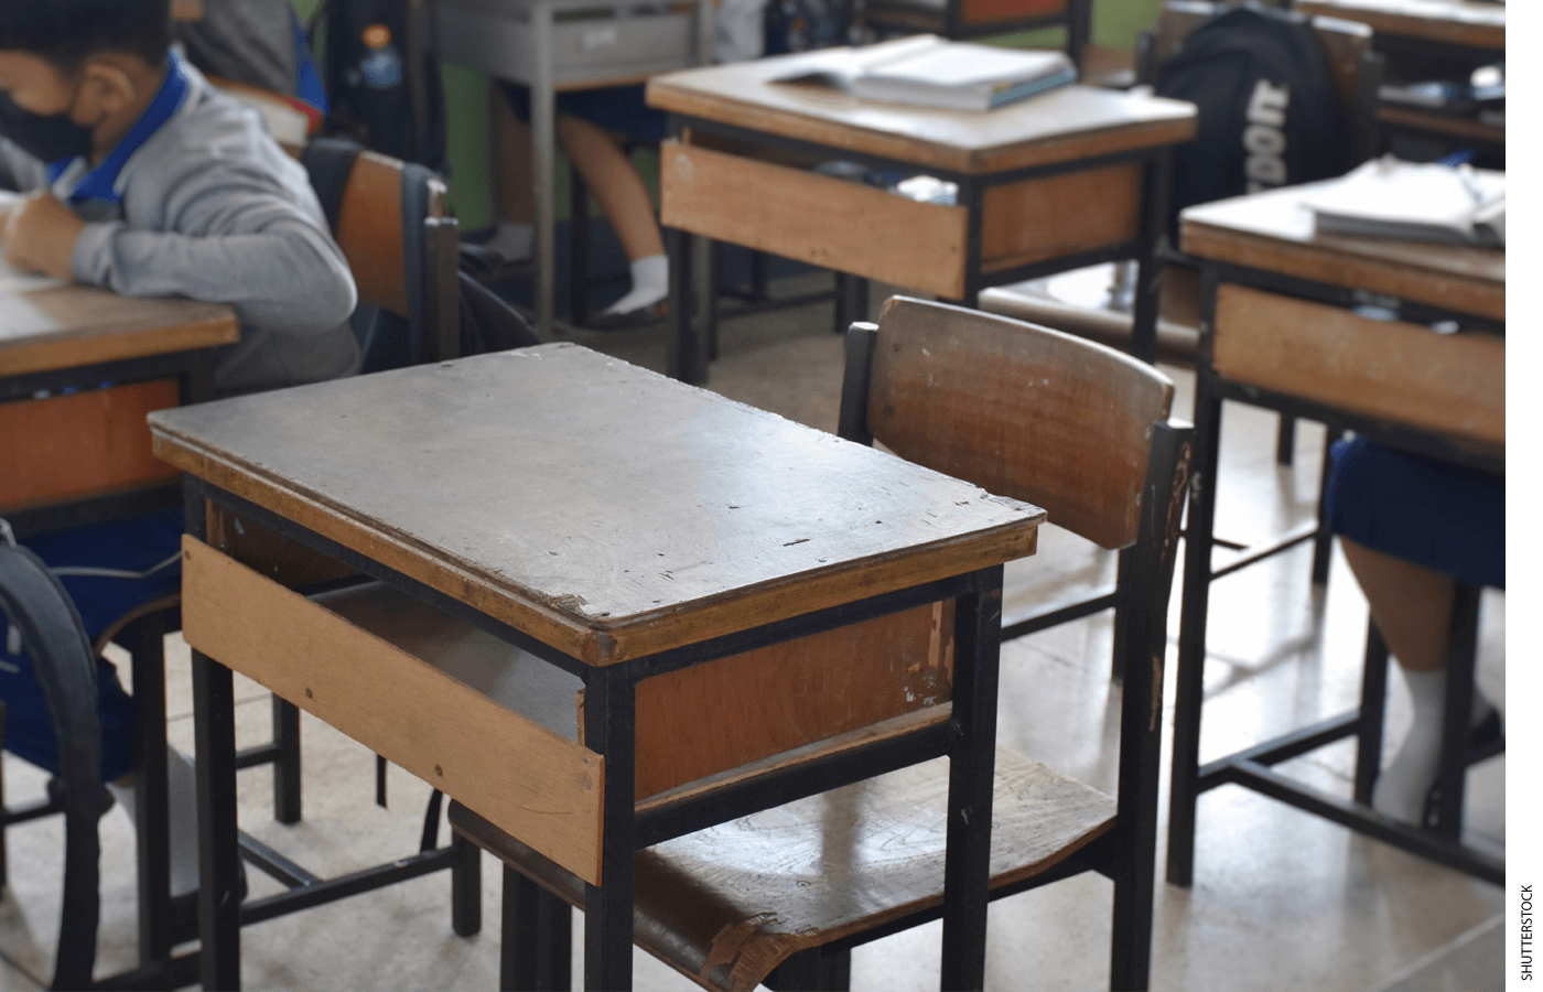
<path fill-rule="evenodd" d="M 861 356 L 847 361 L 858 375 Z M 895 296 L 866 395 L 852 380 L 842 395 L 841 435 L 1043 506 L 1102 548 L 1128 548 L 1140 532 L 1151 429 L 1171 404 L 1168 376 L 1114 349 Z"/>

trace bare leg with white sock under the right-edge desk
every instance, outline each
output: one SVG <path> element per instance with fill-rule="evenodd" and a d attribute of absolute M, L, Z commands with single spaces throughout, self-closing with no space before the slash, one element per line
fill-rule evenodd
<path fill-rule="evenodd" d="M 1441 762 L 1446 653 L 1457 585 L 1449 575 L 1344 537 L 1339 546 L 1366 592 L 1376 629 L 1398 659 L 1415 711 L 1409 736 L 1378 774 L 1372 805 L 1418 824 Z M 1487 713 L 1489 700 L 1475 687 L 1474 720 Z"/>

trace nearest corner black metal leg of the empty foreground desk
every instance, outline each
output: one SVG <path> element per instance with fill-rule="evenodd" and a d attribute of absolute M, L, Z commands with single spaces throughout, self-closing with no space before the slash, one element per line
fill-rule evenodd
<path fill-rule="evenodd" d="M 636 683 L 628 665 L 596 668 L 585 682 L 585 741 L 605 756 L 600 886 L 585 884 L 583 987 L 633 987 L 633 856 L 636 830 Z"/>

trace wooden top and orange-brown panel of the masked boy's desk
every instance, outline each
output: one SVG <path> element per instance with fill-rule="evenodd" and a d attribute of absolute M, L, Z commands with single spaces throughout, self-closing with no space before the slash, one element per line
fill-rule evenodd
<path fill-rule="evenodd" d="M 150 454 L 145 413 L 184 401 L 185 363 L 151 370 L 143 359 L 238 333 L 231 309 L 218 304 L 85 285 L 0 295 L 0 514 L 174 478 Z"/>

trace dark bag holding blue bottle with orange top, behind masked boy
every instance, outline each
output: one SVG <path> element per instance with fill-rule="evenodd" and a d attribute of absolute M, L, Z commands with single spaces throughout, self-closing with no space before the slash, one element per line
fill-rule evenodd
<path fill-rule="evenodd" d="M 407 0 L 322 0 L 322 79 L 329 130 L 404 162 L 449 173 L 444 79 L 432 5 Z"/>

